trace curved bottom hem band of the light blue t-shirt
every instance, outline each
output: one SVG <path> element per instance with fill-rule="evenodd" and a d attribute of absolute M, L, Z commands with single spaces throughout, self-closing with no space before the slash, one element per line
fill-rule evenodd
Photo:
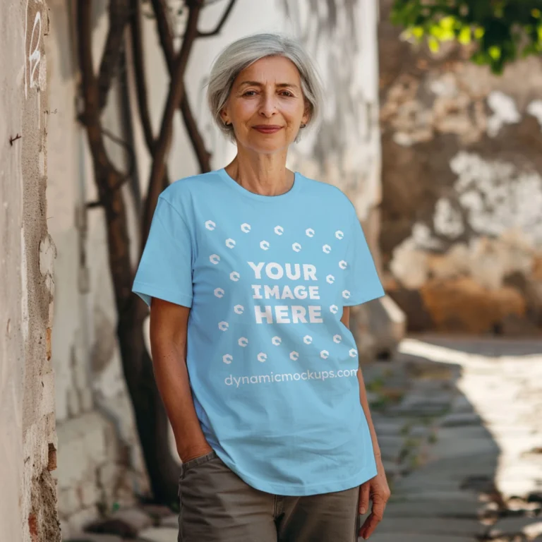
<path fill-rule="evenodd" d="M 304 497 L 306 495 L 320 495 L 321 493 L 334 493 L 335 491 L 343 491 L 357 486 L 361 486 L 362 483 L 365 483 L 371 478 L 374 478 L 378 471 L 376 470 L 376 465 L 369 465 L 363 467 L 358 471 L 354 476 L 349 476 L 349 478 L 344 478 L 344 480 L 334 480 L 328 481 L 326 483 L 316 483 L 310 485 L 299 485 L 299 484 L 283 484 L 283 483 L 269 483 L 259 478 L 254 478 L 253 476 L 247 476 L 242 472 L 239 472 L 227 457 L 219 451 L 217 456 L 222 459 L 222 461 L 234 471 L 241 480 L 248 483 L 249 486 L 263 491 L 265 493 L 271 493 L 272 495 L 285 495 L 289 497 Z"/>

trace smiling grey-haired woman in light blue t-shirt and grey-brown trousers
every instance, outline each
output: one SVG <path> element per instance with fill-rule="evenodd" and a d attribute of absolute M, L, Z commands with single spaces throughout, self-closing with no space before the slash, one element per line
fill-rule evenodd
<path fill-rule="evenodd" d="M 133 291 L 183 462 L 179 541 L 351 542 L 390 495 L 348 328 L 383 288 L 347 196 L 286 167 L 321 94 L 294 40 L 231 44 L 208 102 L 237 155 L 157 204 Z"/>

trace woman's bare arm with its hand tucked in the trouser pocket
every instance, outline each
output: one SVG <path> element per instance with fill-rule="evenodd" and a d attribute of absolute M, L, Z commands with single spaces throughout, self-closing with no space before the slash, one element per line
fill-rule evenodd
<path fill-rule="evenodd" d="M 195 414 L 186 368 L 186 335 L 190 308 L 152 298 L 150 347 L 156 384 L 182 462 L 212 450 Z"/>

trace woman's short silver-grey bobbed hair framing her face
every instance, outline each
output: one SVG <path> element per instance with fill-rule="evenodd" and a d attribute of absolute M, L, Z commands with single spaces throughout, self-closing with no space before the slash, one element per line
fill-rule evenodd
<path fill-rule="evenodd" d="M 295 64 L 301 78 L 303 97 L 309 107 L 307 126 L 314 124 L 320 116 L 323 86 L 313 61 L 301 44 L 292 37 L 280 34 L 255 34 L 243 37 L 229 44 L 219 54 L 212 65 L 207 85 L 207 102 L 212 118 L 232 141 L 235 140 L 234 128 L 224 124 L 220 112 L 226 105 L 231 86 L 239 73 L 266 56 L 284 56 Z M 300 136 L 301 130 L 296 141 L 299 141 Z"/>

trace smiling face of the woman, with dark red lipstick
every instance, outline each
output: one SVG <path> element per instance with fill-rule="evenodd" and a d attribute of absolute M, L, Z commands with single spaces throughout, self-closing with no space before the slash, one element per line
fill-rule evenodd
<path fill-rule="evenodd" d="M 221 115 L 233 124 L 238 146 L 263 154 L 287 149 L 309 117 L 294 63 L 267 56 L 245 68 Z"/>

